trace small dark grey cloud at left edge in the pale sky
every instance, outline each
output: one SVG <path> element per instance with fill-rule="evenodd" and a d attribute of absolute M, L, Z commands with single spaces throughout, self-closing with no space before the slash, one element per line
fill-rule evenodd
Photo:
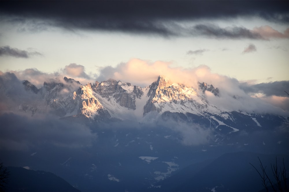
<path fill-rule="evenodd" d="M 29 58 L 30 56 L 42 54 L 39 52 L 29 52 L 25 50 L 19 50 L 17 48 L 10 48 L 10 46 L 0 47 L 0 56 L 11 56 L 16 58 Z"/>

